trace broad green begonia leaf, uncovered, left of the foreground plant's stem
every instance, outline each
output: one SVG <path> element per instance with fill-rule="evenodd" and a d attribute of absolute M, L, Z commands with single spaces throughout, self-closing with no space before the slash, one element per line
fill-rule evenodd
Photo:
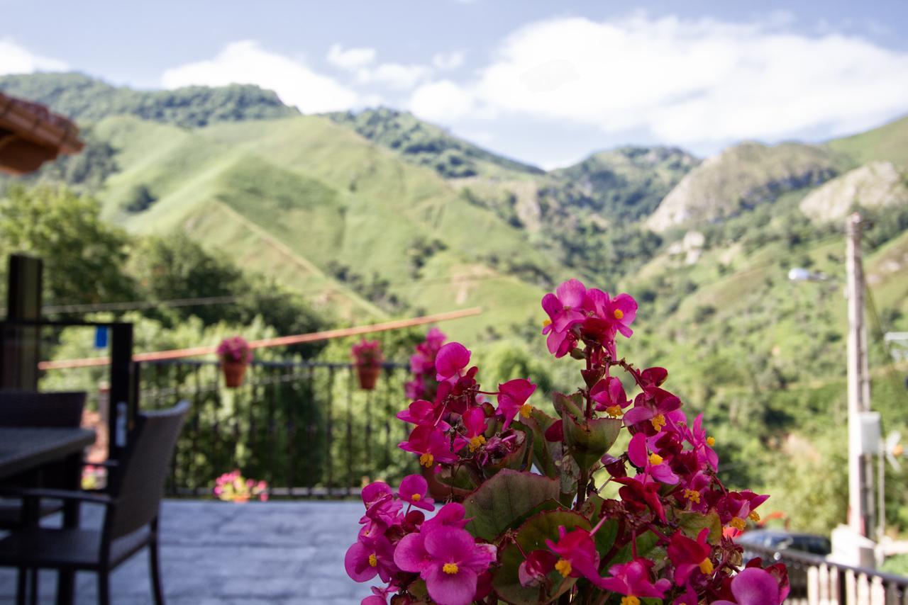
<path fill-rule="evenodd" d="M 534 506 L 557 498 L 555 479 L 504 469 L 464 499 L 467 518 L 471 518 L 467 530 L 493 542 Z"/>

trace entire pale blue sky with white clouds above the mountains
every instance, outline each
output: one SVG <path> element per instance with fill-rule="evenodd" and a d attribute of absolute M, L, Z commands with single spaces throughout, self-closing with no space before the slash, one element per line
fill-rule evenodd
<path fill-rule="evenodd" d="M 908 2 L 755 4 L 0 0 L 0 73 L 384 104 L 545 167 L 621 144 L 822 141 L 908 112 Z"/>

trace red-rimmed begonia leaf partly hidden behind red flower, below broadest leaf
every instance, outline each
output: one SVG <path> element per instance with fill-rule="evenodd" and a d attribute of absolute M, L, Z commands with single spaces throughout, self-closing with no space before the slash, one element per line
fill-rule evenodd
<path fill-rule="evenodd" d="M 570 532 L 579 527 L 589 531 L 589 521 L 579 512 L 557 510 L 540 512 L 530 517 L 517 531 L 516 542 L 524 552 L 547 549 L 546 540 L 558 541 L 558 528 Z M 558 598 L 560 594 L 569 590 L 575 583 L 575 578 L 563 578 L 553 570 L 548 574 L 550 588 L 546 586 L 525 587 L 520 584 L 518 569 L 524 561 L 520 548 L 514 543 L 508 543 L 501 550 L 501 565 L 492 577 L 492 588 L 501 599 L 515 605 L 537 605 L 548 603 Z"/>

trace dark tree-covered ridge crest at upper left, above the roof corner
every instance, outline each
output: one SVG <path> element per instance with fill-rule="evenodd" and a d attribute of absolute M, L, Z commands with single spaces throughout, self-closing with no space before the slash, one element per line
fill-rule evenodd
<path fill-rule="evenodd" d="M 97 122 L 110 115 L 135 115 L 144 120 L 194 127 L 299 113 L 284 105 L 275 93 L 249 84 L 136 91 L 82 73 L 33 73 L 0 77 L 0 91 L 40 102 L 79 123 Z"/>

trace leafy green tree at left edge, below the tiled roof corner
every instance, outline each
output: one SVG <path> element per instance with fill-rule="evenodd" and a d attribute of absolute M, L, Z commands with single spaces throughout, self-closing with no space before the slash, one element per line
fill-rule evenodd
<path fill-rule="evenodd" d="M 133 300 L 128 245 L 94 198 L 65 187 L 13 187 L 0 199 L 0 250 L 44 259 L 46 304 Z"/>

